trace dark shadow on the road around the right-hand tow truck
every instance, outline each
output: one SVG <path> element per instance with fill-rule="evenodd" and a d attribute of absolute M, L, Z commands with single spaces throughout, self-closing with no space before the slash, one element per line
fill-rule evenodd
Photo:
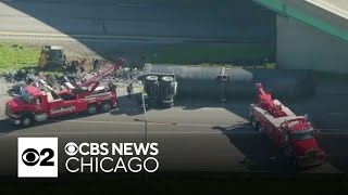
<path fill-rule="evenodd" d="M 212 129 L 221 131 L 226 135 L 229 142 L 246 156 L 246 158 L 240 161 L 240 165 L 250 171 L 295 173 L 321 169 L 322 167 L 295 168 L 290 165 L 289 159 L 284 155 L 283 151 L 279 150 L 272 140 L 260 135 L 257 131 L 252 131 L 251 133 L 232 133 L 234 131 L 243 132 L 246 131 L 246 129 L 250 129 L 249 123 L 227 128 L 215 126 Z M 338 139 L 337 135 L 325 135 L 324 139 L 320 140 L 319 144 L 327 155 L 325 164 L 330 164 L 339 171 L 348 172 L 348 156 L 346 154 L 348 142 L 346 136 Z"/>

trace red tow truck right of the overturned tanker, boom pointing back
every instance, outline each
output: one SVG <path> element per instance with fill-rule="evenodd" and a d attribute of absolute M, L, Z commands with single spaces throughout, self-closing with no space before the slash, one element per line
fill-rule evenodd
<path fill-rule="evenodd" d="M 297 116 L 278 100 L 272 100 L 261 83 L 257 83 L 258 104 L 250 105 L 251 126 L 273 140 L 296 167 L 311 167 L 325 161 L 325 153 L 318 145 L 319 131 L 307 116 Z"/>

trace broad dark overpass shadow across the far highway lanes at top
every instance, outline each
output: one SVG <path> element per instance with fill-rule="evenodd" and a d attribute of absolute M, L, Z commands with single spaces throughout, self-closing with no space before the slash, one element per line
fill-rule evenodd
<path fill-rule="evenodd" d="M 40 30 L 32 29 L 29 24 L 27 28 L 23 28 L 27 32 L 47 32 L 53 28 L 71 36 L 108 60 L 115 60 L 115 53 L 123 55 L 124 51 L 120 49 L 122 47 L 134 51 L 134 46 L 138 47 L 139 42 L 144 46 L 151 44 L 149 40 L 142 40 L 141 36 L 275 42 L 275 14 L 261 9 L 252 1 L 219 0 L 214 3 L 197 3 L 184 0 L 144 0 L 137 3 L 126 0 L 85 0 L 82 3 L 66 0 L 52 2 L 18 0 L 3 3 L 47 25 Z M 12 31 L 16 31 L 13 29 Z M 117 44 L 105 46 L 105 42 L 110 42 L 110 38 L 86 38 L 85 35 L 123 38 L 117 38 Z M 156 46 L 159 43 L 154 42 Z"/>

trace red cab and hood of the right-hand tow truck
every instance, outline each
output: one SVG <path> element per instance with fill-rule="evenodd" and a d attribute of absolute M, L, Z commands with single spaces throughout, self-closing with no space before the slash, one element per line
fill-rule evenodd
<path fill-rule="evenodd" d="M 309 167 L 324 162 L 325 153 L 318 145 L 319 131 L 312 128 L 306 117 L 285 121 L 281 128 L 294 165 Z"/>

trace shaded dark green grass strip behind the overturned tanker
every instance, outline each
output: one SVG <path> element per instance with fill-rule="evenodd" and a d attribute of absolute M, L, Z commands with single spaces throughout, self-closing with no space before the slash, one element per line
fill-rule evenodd
<path fill-rule="evenodd" d="M 235 61 L 272 57 L 275 47 L 261 43 L 174 44 L 146 53 L 146 63 L 158 64 L 233 64 Z"/>

